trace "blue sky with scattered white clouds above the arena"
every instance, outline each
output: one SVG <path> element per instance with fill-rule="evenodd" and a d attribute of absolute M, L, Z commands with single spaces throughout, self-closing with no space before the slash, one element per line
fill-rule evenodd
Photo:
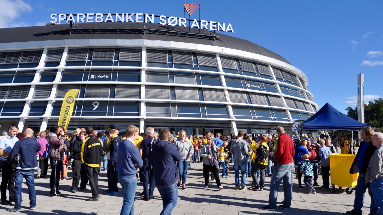
<path fill-rule="evenodd" d="M 346 112 L 355 107 L 357 75 L 365 75 L 365 101 L 383 96 L 383 2 L 198 1 L 201 19 L 231 23 L 230 36 L 285 57 L 308 77 L 308 90 Z M 148 13 L 183 17 L 188 1 L 0 0 L 0 28 L 44 25 L 51 13 Z M 191 16 L 198 18 L 197 12 Z M 1 31 L 1 29 L 0 29 Z"/>

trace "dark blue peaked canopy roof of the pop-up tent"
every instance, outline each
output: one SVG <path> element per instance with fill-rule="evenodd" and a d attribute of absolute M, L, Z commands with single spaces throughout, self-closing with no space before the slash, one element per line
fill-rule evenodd
<path fill-rule="evenodd" d="M 360 130 L 367 125 L 326 103 L 316 114 L 304 121 L 303 130 Z"/>

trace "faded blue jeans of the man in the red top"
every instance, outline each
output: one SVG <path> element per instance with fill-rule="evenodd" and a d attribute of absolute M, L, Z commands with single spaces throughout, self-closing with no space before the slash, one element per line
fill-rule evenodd
<path fill-rule="evenodd" d="M 282 179 L 285 187 L 285 203 L 283 206 L 288 208 L 291 206 L 291 169 L 293 166 L 294 163 L 289 163 L 283 165 L 278 164 L 274 167 L 273 176 L 270 181 L 270 194 L 268 196 L 269 207 L 277 208 L 278 189 Z"/>

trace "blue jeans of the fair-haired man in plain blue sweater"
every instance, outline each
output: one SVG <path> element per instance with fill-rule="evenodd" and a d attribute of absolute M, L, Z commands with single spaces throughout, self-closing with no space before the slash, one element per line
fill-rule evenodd
<path fill-rule="evenodd" d="M 136 195 L 137 177 L 118 176 L 118 182 L 124 191 L 124 202 L 120 215 L 133 215 L 134 213 L 134 197 Z"/>

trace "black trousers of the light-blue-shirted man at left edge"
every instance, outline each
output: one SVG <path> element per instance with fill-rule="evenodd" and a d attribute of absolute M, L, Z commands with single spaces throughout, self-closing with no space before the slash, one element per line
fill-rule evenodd
<path fill-rule="evenodd" d="M 3 161 L 2 165 L 3 176 L 0 184 L 1 199 L 7 200 L 7 185 L 9 190 L 9 200 L 15 199 L 15 178 L 13 178 L 12 166 L 7 162 Z"/>

